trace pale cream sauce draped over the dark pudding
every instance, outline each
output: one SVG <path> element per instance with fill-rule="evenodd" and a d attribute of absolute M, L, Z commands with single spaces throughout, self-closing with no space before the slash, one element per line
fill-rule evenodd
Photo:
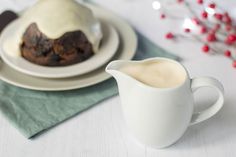
<path fill-rule="evenodd" d="M 3 49 L 20 55 L 20 44 L 28 26 L 36 23 L 48 38 L 57 39 L 66 32 L 80 30 L 93 46 L 96 53 L 102 38 L 98 20 L 92 11 L 74 0 L 39 0 L 18 19 L 18 27 L 3 43 Z"/>

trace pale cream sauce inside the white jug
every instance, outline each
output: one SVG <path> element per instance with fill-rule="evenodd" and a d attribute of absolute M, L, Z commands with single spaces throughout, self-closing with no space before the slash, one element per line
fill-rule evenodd
<path fill-rule="evenodd" d="M 180 65 L 164 60 L 125 65 L 120 71 L 157 88 L 175 87 L 186 79 L 186 72 Z"/>

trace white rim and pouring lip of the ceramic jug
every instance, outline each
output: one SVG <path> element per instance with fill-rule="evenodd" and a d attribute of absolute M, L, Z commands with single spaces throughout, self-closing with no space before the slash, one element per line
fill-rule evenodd
<path fill-rule="evenodd" d="M 137 64 L 137 63 L 144 63 L 144 62 L 150 62 L 150 61 L 158 61 L 158 60 L 165 60 L 165 61 L 169 61 L 169 62 L 172 62 L 172 63 L 175 63 L 176 65 L 178 65 L 179 67 L 181 67 L 184 71 L 185 71 L 185 80 L 177 85 L 177 86 L 174 86 L 174 87 L 166 87 L 166 88 L 157 88 L 157 87 L 152 87 L 150 85 L 147 85 L 145 83 L 142 83 L 140 81 L 138 81 L 137 79 L 129 76 L 129 75 L 126 75 L 124 74 L 123 72 L 119 71 L 119 68 L 120 68 L 120 65 L 122 64 Z M 116 66 L 116 67 L 114 67 Z M 144 60 L 114 60 L 114 61 L 111 61 L 107 66 L 106 66 L 106 69 L 105 71 L 109 74 L 111 74 L 112 72 L 115 72 L 117 74 L 119 74 L 120 76 L 122 77 L 125 77 L 127 79 L 131 79 L 132 81 L 135 81 L 139 86 L 143 87 L 143 88 L 147 88 L 147 89 L 150 89 L 150 90 L 155 90 L 155 91 L 170 91 L 170 90 L 177 90 L 179 89 L 181 86 L 183 86 L 184 84 L 186 84 L 186 82 L 189 80 L 189 73 L 187 71 L 187 69 L 185 68 L 185 66 L 175 60 L 172 60 L 172 59 L 169 59 L 169 58 L 164 58 L 164 57 L 154 57 L 154 58 L 148 58 L 148 59 L 144 59 Z"/>

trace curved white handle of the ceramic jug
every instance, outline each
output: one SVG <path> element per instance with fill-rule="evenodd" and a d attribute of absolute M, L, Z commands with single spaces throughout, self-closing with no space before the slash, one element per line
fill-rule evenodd
<path fill-rule="evenodd" d="M 218 80 L 211 77 L 197 77 L 191 79 L 191 88 L 193 92 L 195 92 L 200 87 L 211 87 L 213 89 L 216 89 L 216 91 L 218 92 L 218 99 L 209 108 L 201 112 L 194 113 L 192 115 L 190 125 L 202 122 L 212 117 L 222 108 L 224 104 L 224 88 Z"/>

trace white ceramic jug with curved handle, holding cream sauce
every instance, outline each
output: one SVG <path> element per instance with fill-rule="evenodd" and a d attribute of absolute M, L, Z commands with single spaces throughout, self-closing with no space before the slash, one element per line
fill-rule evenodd
<path fill-rule="evenodd" d="M 154 60 L 175 63 L 186 72 L 185 81 L 173 88 L 154 88 L 139 82 L 120 71 L 121 67 L 143 64 Z M 126 124 L 141 143 L 155 148 L 175 143 L 192 124 L 204 121 L 216 114 L 223 106 L 223 86 L 214 78 L 190 79 L 180 63 L 166 58 L 143 61 L 112 61 L 106 71 L 117 81 Z M 200 113 L 193 113 L 193 92 L 199 87 L 212 87 L 219 94 L 217 101 Z"/>

